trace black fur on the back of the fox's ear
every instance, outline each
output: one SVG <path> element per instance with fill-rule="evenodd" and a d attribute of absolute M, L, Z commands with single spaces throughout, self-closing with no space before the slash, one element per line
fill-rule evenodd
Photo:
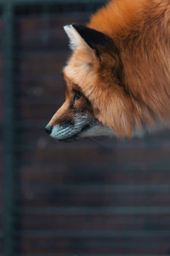
<path fill-rule="evenodd" d="M 72 24 L 72 26 L 92 49 L 112 43 L 111 38 L 106 36 L 104 33 L 89 28 L 88 26 L 82 26 L 79 24 Z"/>

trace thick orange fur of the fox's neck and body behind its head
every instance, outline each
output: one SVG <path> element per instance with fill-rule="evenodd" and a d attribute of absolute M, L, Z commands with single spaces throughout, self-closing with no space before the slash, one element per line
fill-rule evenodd
<path fill-rule="evenodd" d="M 134 119 L 132 124 L 136 123 L 139 127 L 143 122 L 146 125 L 153 125 L 156 123 L 156 117 L 168 123 L 170 2 L 111 1 L 92 16 L 88 26 L 113 38 L 121 49 L 124 82 L 130 94 L 129 98 L 124 96 L 122 101 L 126 108 L 128 106 L 129 111 L 133 108 L 127 119 Z M 120 101 L 117 102 L 117 105 L 119 104 Z M 130 127 L 130 124 L 127 124 L 129 121 L 126 122 L 126 126 Z M 118 129 L 121 127 L 117 126 Z M 127 133 L 130 134 L 130 131 Z"/>

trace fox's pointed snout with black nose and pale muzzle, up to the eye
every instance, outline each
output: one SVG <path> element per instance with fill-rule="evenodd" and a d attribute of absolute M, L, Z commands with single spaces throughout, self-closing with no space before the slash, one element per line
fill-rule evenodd
<path fill-rule="evenodd" d="M 72 142 L 85 137 L 91 126 L 97 123 L 89 104 L 81 92 L 67 93 L 65 103 L 54 113 L 45 127 L 50 137 L 59 141 Z"/>

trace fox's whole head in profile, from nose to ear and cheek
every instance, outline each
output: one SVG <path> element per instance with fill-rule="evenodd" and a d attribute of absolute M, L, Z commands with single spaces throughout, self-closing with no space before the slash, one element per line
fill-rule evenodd
<path fill-rule="evenodd" d="M 116 105 L 123 91 L 122 62 L 116 44 L 104 33 L 87 26 L 72 24 L 64 29 L 72 50 L 63 70 L 65 102 L 54 113 L 46 131 L 65 142 L 121 134 L 121 127 L 112 119 L 122 110 L 113 107 L 111 112 L 112 101 L 115 99 Z M 117 96 L 111 99 L 113 90 Z M 120 118 L 123 119 L 123 113 Z"/>

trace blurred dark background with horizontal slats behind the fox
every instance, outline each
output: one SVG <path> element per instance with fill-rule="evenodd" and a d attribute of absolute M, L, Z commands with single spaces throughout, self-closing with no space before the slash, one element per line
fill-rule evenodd
<path fill-rule="evenodd" d="M 105 1 L 0 0 L 1 256 L 170 255 L 170 132 L 59 143 L 63 30 Z"/>

